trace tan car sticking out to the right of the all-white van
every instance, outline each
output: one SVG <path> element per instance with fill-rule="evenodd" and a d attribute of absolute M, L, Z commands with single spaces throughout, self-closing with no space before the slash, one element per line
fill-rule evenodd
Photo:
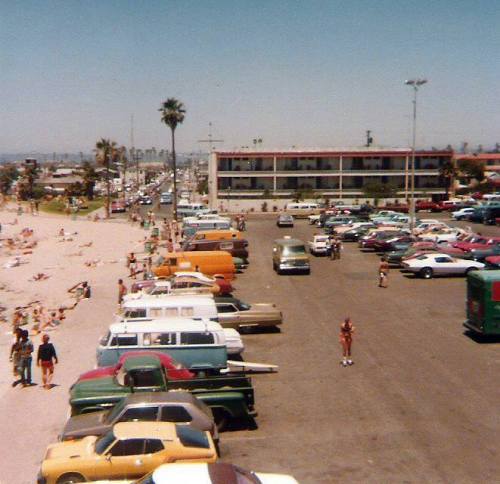
<path fill-rule="evenodd" d="M 239 330 L 276 327 L 283 322 L 283 313 L 275 304 L 247 304 L 235 297 L 216 297 L 215 305 L 223 328 Z"/>

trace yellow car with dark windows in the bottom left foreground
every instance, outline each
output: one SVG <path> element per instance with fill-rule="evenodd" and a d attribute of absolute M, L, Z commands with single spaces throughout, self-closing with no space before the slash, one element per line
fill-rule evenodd
<path fill-rule="evenodd" d="M 123 422 L 102 437 L 48 447 L 38 484 L 142 477 L 166 462 L 215 462 L 209 432 L 171 422 Z"/>

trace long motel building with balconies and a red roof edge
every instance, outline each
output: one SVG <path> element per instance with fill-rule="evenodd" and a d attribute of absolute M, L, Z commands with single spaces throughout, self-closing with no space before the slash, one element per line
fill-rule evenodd
<path fill-rule="evenodd" d="M 444 197 L 439 169 L 452 158 L 453 151 L 415 153 L 416 197 Z M 368 182 L 391 183 L 398 189 L 395 198 L 404 200 L 411 190 L 411 150 L 216 151 L 210 155 L 208 173 L 212 208 L 232 199 L 292 199 L 297 192 L 354 202 L 367 199 L 363 185 Z"/>

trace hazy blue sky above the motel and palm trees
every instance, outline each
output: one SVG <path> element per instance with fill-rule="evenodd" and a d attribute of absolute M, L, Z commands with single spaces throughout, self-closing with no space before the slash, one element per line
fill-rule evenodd
<path fill-rule="evenodd" d="M 498 0 L 0 0 L 0 152 L 500 142 Z"/>

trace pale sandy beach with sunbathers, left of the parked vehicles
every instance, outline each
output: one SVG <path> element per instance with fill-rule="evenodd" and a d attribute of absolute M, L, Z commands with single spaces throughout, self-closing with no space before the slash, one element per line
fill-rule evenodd
<path fill-rule="evenodd" d="M 10 225 L 15 219 L 18 223 Z M 125 267 L 127 252 L 137 251 L 140 257 L 146 232 L 125 220 L 91 222 L 50 215 L 21 215 L 0 212 L 2 248 L 0 249 L 0 305 L 6 310 L 7 321 L 1 323 L 0 355 L 0 421 L 3 438 L 1 483 L 32 483 L 43 458 L 46 445 L 54 441 L 64 425 L 68 412 L 68 388 L 83 371 L 95 365 L 95 348 L 99 336 L 106 330 L 117 308 L 117 280 L 122 277 L 127 286 L 130 279 Z M 27 240 L 36 240 L 29 251 L 9 250 L 6 239 L 19 236 L 24 228 L 33 230 Z M 59 236 L 64 229 L 65 236 Z M 9 267 L 20 258 L 20 265 Z M 44 274 L 43 280 L 33 276 Z M 74 310 L 66 311 L 67 319 L 48 334 L 59 356 L 54 384 L 44 390 L 40 370 L 33 362 L 35 385 L 13 388 L 9 351 L 12 343 L 11 319 L 14 308 L 40 301 L 46 309 L 74 304 L 67 291 L 81 281 L 88 281 L 92 297 L 82 300 Z M 23 326 L 32 329 L 32 324 Z M 41 335 L 30 331 L 36 348 Z M 38 420 L 37 434 L 32 423 Z M 40 422 L 41 420 L 41 422 Z M 35 443 L 36 441 L 36 443 Z M 31 443 L 33 442 L 33 445 Z"/>

